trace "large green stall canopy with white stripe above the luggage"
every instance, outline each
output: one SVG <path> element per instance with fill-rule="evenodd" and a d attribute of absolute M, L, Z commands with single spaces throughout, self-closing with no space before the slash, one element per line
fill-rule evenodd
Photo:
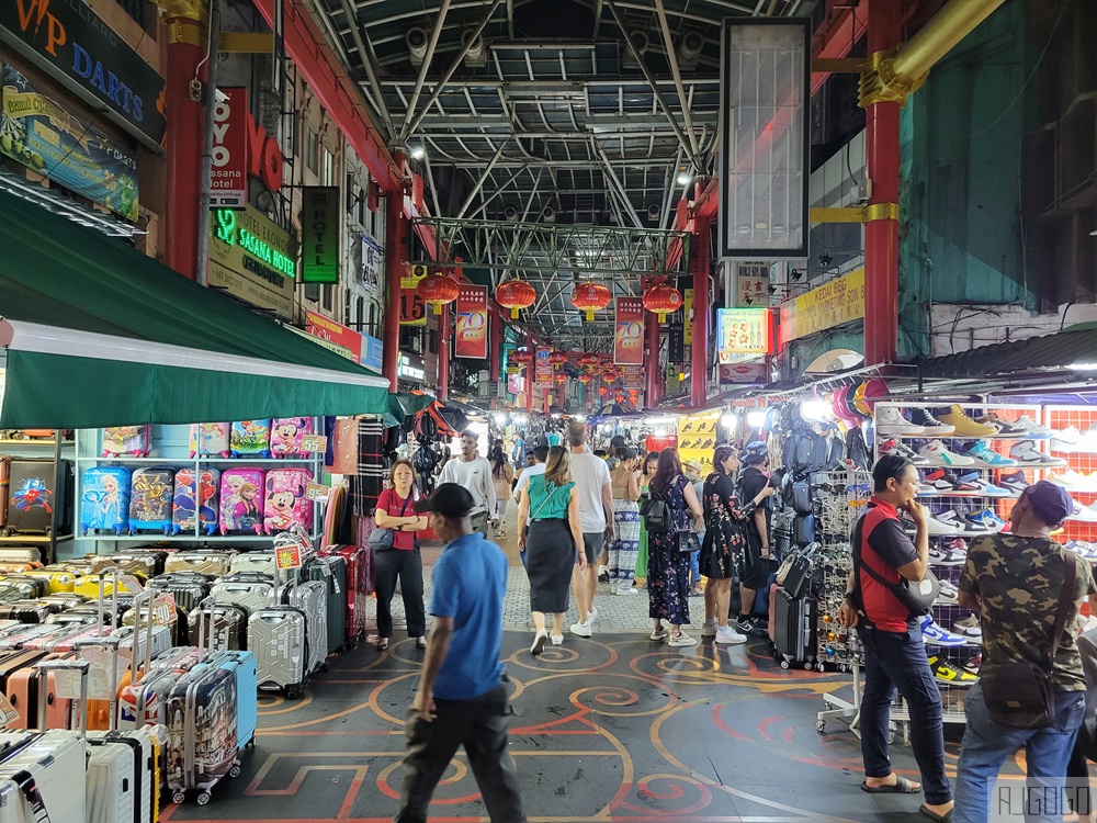
<path fill-rule="evenodd" d="M 383 414 L 388 382 L 0 192 L 2 428 Z"/>

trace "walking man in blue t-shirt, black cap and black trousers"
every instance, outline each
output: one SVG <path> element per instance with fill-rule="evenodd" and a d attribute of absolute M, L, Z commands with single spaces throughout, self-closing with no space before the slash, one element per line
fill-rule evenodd
<path fill-rule="evenodd" d="M 408 753 L 396 823 L 426 823 L 434 787 L 465 747 L 491 823 L 524 823 L 518 770 L 507 747 L 510 700 L 499 662 L 507 555 L 478 531 L 473 497 L 443 483 L 416 504 L 445 543 L 431 576 L 434 616 L 419 690 L 408 710 Z M 450 654 L 450 646 L 456 649 Z"/>

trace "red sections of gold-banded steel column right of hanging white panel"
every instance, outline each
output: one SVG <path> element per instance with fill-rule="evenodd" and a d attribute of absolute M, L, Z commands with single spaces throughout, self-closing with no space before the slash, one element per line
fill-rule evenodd
<path fill-rule="evenodd" d="M 869 56 L 890 52 L 902 38 L 902 9 L 872 0 Z M 898 113 L 901 103 L 866 109 L 866 155 L 872 181 L 870 205 L 898 203 Z M 893 363 L 898 354 L 898 221 L 872 219 L 864 226 L 864 363 Z"/>

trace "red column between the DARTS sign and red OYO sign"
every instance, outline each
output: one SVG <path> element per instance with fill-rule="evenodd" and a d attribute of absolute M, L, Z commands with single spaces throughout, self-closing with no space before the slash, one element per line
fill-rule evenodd
<path fill-rule="evenodd" d="M 163 104 L 168 121 L 165 148 L 168 161 L 168 214 L 165 262 L 188 280 L 197 271 L 199 204 L 202 202 L 202 153 L 205 117 L 191 100 L 191 81 L 205 80 L 210 37 L 210 4 L 182 0 L 170 4 L 167 20 L 168 59 Z M 150 103 L 152 101 L 149 101 Z"/>

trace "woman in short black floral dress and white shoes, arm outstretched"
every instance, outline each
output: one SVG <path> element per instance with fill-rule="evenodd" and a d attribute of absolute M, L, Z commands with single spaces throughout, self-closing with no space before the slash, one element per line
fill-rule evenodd
<path fill-rule="evenodd" d="M 746 519 L 757 505 L 773 494 L 766 486 L 753 500 L 739 501 L 732 476 L 739 470 L 739 458 L 730 446 L 721 446 L 712 458 L 713 472 L 704 481 L 704 543 L 701 545 L 701 574 L 709 578 L 704 587 L 704 625 L 702 638 L 717 643 L 746 643 L 747 638 L 727 624 L 732 578 L 742 574 L 746 556 Z"/>

